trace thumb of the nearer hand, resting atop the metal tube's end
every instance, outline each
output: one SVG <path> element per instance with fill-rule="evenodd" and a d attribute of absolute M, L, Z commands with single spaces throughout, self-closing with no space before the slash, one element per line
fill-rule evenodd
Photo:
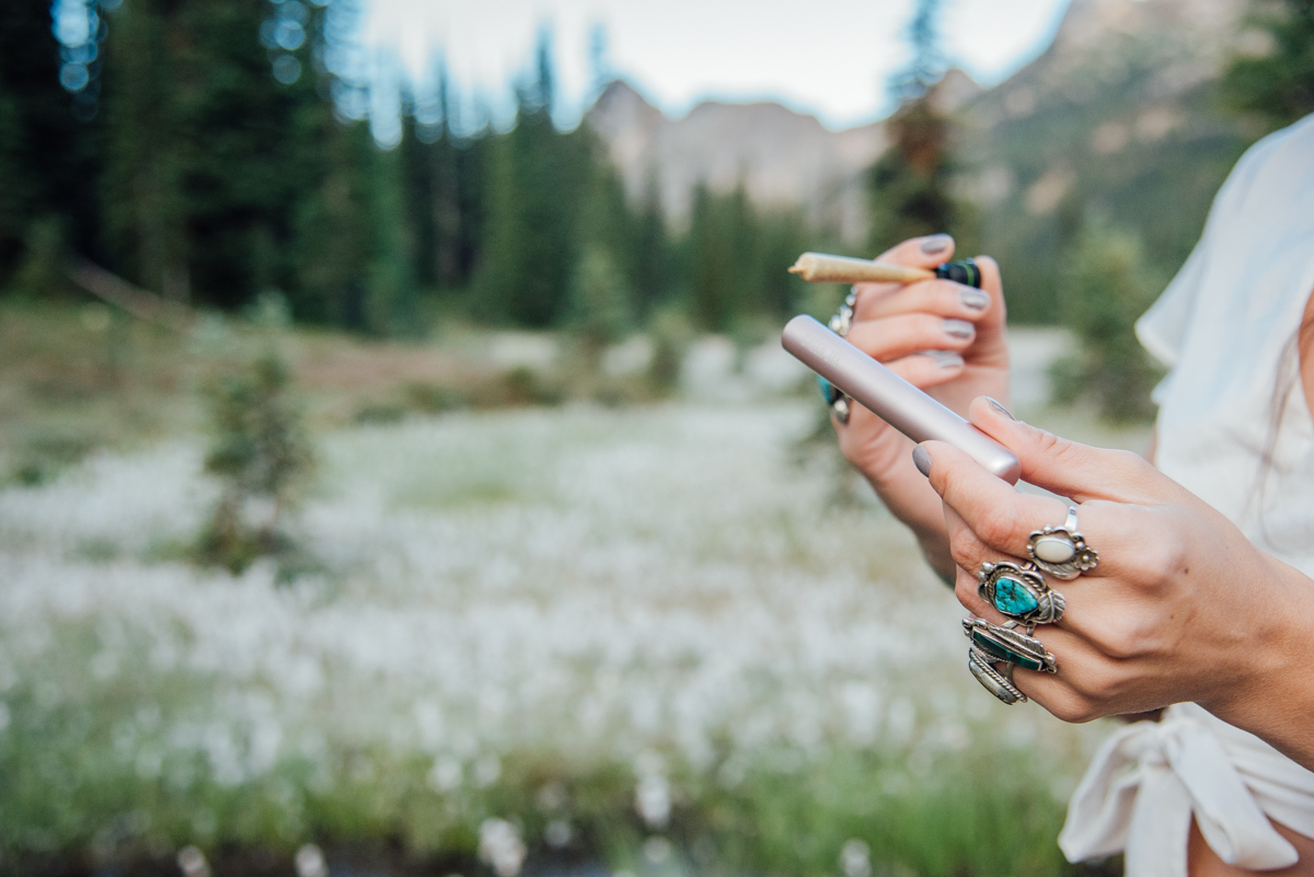
<path fill-rule="evenodd" d="M 972 400 L 968 419 L 1022 462 L 1022 481 L 1084 503 L 1109 499 L 1154 504 L 1154 466 L 1130 450 L 1092 448 L 1022 423 L 989 396 Z"/>

